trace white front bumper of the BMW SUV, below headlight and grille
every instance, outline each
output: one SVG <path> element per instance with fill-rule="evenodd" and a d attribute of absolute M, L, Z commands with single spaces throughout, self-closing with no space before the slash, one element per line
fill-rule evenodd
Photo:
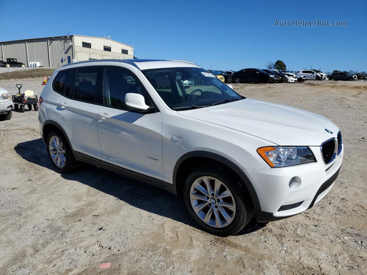
<path fill-rule="evenodd" d="M 311 208 L 333 187 L 342 165 L 343 150 L 325 165 L 319 146 L 310 146 L 316 162 L 285 168 L 243 170 L 253 183 L 261 209 L 255 209 L 258 222 L 280 220 Z M 343 149 L 343 148 L 342 148 Z M 302 183 L 296 190 L 289 180 L 298 176 Z"/>

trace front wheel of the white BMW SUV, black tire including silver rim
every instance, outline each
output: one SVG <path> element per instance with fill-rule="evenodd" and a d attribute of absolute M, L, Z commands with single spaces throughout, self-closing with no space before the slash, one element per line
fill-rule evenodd
<path fill-rule="evenodd" d="M 201 188 L 210 197 L 195 188 L 199 186 L 200 181 L 208 178 L 210 179 L 211 189 L 215 189 L 215 185 L 220 184 L 221 188 L 217 191 L 219 195 L 214 194 L 215 191 L 209 194 L 207 191 L 208 188 L 203 188 L 205 186 L 203 182 L 201 183 L 203 184 Z M 184 200 L 192 219 L 210 234 L 229 236 L 239 232 L 248 224 L 254 215 L 252 205 L 248 204 L 248 202 L 251 202 L 250 195 L 246 194 L 240 185 L 240 180 L 236 176 L 233 176 L 232 171 L 220 166 L 203 166 L 193 169 L 186 178 L 184 185 Z M 227 192 L 230 196 L 223 199 L 219 198 L 224 192 Z M 196 199 L 196 195 L 199 195 L 204 200 Z M 194 206 L 195 204 L 199 208 L 197 213 L 194 210 L 194 207 L 196 207 Z M 228 206 L 222 206 L 224 204 Z M 228 221 L 222 215 L 223 211 L 225 211 Z M 215 219 L 216 215 L 218 215 L 219 220 Z"/>

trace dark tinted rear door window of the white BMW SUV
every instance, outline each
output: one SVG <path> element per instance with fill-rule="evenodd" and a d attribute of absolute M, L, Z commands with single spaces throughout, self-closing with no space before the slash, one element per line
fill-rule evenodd
<path fill-rule="evenodd" d="M 74 99 L 96 102 L 95 94 L 99 89 L 100 67 L 77 69 L 74 81 Z"/>

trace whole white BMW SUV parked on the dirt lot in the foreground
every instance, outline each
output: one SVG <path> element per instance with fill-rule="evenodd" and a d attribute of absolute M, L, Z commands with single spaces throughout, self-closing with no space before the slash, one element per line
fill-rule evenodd
<path fill-rule="evenodd" d="M 268 222 L 309 209 L 343 158 L 330 120 L 241 96 L 183 60 L 65 65 L 43 89 L 39 123 L 58 172 L 82 161 L 165 188 L 221 236 L 254 215 Z"/>

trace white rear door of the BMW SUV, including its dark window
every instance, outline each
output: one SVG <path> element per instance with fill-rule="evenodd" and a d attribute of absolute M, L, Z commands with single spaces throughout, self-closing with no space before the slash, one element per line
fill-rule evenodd
<path fill-rule="evenodd" d="M 101 147 L 96 113 L 102 99 L 101 80 L 102 67 L 72 70 L 57 104 L 57 122 L 69 137 L 73 150 L 98 159 Z"/>

